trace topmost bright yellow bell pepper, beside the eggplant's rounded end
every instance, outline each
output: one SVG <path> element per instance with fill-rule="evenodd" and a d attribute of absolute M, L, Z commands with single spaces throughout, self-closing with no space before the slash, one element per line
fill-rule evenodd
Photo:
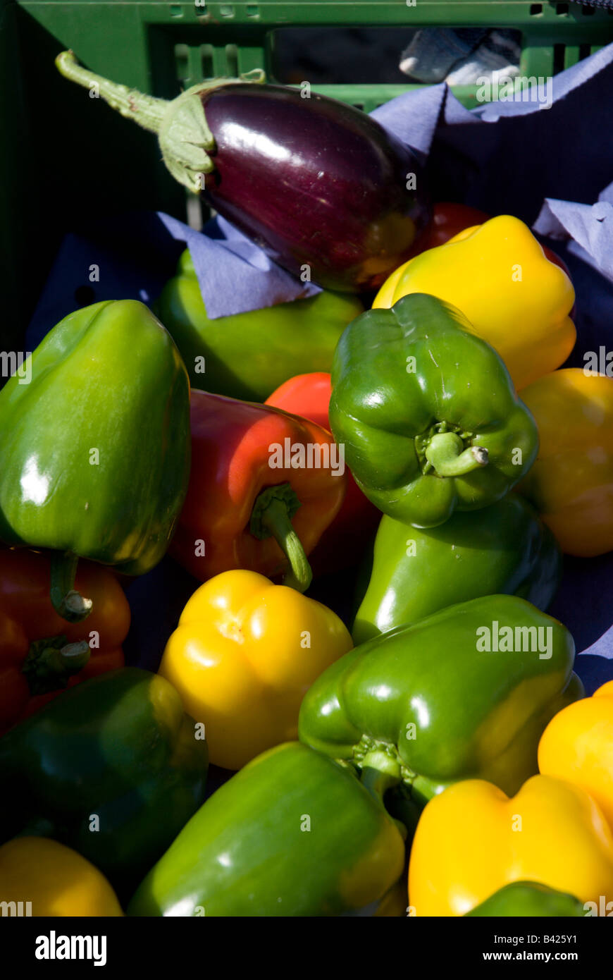
<path fill-rule="evenodd" d="M 509 215 L 409 259 L 383 283 L 373 307 L 392 307 L 408 293 L 430 293 L 461 310 L 518 390 L 558 368 L 575 346 L 568 275 L 549 262 L 528 225 Z"/>

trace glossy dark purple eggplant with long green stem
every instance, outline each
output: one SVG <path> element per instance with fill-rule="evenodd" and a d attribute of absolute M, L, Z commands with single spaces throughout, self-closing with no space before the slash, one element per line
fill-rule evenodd
<path fill-rule="evenodd" d="M 270 258 L 329 289 L 379 286 L 430 218 L 411 150 L 353 106 L 261 81 L 203 82 L 166 102 L 56 61 L 159 136 L 165 165 Z"/>

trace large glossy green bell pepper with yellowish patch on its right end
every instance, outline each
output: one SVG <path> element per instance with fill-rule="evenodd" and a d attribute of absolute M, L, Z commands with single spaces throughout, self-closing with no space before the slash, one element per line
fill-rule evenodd
<path fill-rule="evenodd" d="M 387 773 L 418 806 L 460 779 L 513 796 L 538 772 L 549 719 L 584 694 L 574 652 L 562 623 L 524 599 L 450 606 L 329 666 L 303 700 L 299 736 Z"/>

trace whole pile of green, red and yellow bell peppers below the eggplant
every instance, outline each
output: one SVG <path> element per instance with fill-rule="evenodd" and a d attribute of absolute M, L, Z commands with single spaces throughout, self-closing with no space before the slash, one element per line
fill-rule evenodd
<path fill-rule="evenodd" d="M 209 319 L 185 253 L 155 313 L 50 330 L 0 392 L 1 902 L 611 913 L 613 681 L 546 613 L 613 549 L 574 304 L 522 221 L 444 205 L 374 301 Z M 124 588 L 163 558 L 152 672 Z"/>

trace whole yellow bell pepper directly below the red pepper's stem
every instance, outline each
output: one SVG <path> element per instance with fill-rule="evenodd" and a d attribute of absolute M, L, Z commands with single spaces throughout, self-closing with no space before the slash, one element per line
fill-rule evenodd
<path fill-rule="evenodd" d="M 307 688 L 352 646 L 321 603 L 255 571 L 225 571 L 187 603 L 160 673 L 204 722 L 211 761 L 239 769 L 298 738 Z"/>

